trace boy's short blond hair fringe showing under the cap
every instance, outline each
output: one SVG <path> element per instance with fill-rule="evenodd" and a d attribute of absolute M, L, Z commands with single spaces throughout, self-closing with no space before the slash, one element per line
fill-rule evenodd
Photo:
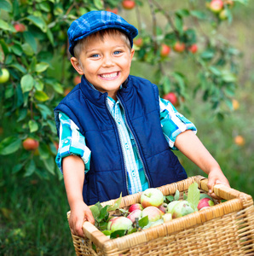
<path fill-rule="evenodd" d="M 78 40 L 77 44 L 74 46 L 74 56 L 79 60 L 79 56 L 81 55 L 81 52 L 83 49 L 85 49 L 85 46 L 94 38 L 98 38 L 100 39 L 102 42 L 104 42 L 104 38 L 105 36 L 110 35 L 110 36 L 117 36 L 120 35 L 125 43 L 127 44 L 128 48 L 131 50 L 131 45 L 130 45 L 130 39 L 127 37 L 127 35 L 116 29 L 116 28 L 107 28 L 107 29 L 103 29 L 100 30 L 98 32 L 92 33 L 90 34 L 88 37 L 86 38 L 82 38 L 80 40 Z"/>

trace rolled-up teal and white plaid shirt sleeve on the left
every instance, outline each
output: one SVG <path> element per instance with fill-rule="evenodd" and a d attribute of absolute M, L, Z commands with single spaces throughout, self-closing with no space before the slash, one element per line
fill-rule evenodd
<path fill-rule="evenodd" d="M 56 165 L 62 172 L 62 159 L 68 155 L 78 155 L 84 161 L 84 173 L 89 172 L 91 151 L 85 144 L 84 136 L 80 133 L 78 126 L 65 113 L 59 113 L 59 120 L 59 148 L 55 158 Z"/>

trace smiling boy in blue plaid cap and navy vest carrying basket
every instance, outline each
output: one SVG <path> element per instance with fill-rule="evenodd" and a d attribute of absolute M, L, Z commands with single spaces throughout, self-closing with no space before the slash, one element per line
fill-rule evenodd
<path fill-rule="evenodd" d="M 72 22 L 71 62 L 82 75 L 55 108 L 60 136 L 56 162 L 64 175 L 72 233 L 94 218 L 88 205 L 187 177 L 170 148 L 178 148 L 215 183 L 229 186 L 196 137 L 195 126 L 159 98 L 156 85 L 130 76 L 136 27 L 106 11 Z"/>

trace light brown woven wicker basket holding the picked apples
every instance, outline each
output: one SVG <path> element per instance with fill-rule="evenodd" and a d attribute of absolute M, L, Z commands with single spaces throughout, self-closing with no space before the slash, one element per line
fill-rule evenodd
<path fill-rule="evenodd" d="M 201 176 L 171 183 L 159 189 L 164 195 L 174 195 L 176 189 L 188 192 L 193 182 L 206 193 L 207 179 Z M 216 185 L 215 194 L 227 200 L 200 212 L 193 212 L 169 223 L 109 239 L 93 224 L 83 225 L 85 238 L 72 234 L 79 255 L 254 255 L 254 207 L 251 195 Z M 124 196 L 121 208 L 140 201 L 141 193 Z M 115 200 L 101 203 L 113 205 Z M 69 216 L 69 213 L 67 215 Z"/>

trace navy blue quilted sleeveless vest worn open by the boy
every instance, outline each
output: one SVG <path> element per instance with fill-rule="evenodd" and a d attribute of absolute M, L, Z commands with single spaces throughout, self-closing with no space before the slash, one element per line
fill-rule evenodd
<path fill-rule="evenodd" d="M 147 79 L 129 76 L 117 97 L 136 140 L 149 186 L 155 188 L 186 178 L 161 129 L 158 87 Z M 59 111 L 78 125 L 91 150 L 90 170 L 84 180 L 84 202 L 91 205 L 118 198 L 121 192 L 123 196 L 128 195 L 124 156 L 117 125 L 107 108 L 107 93 L 93 89 L 83 77 L 55 108 L 58 132 Z"/>

